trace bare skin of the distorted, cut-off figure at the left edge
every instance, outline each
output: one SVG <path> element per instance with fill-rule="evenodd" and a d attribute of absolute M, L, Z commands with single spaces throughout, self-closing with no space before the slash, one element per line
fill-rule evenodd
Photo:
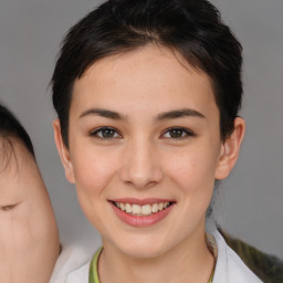
<path fill-rule="evenodd" d="M 4 148 L 0 169 L 0 279 L 48 283 L 60 252 L 54 213 L 34 158 L 9 139 L 13 151 Z"/>

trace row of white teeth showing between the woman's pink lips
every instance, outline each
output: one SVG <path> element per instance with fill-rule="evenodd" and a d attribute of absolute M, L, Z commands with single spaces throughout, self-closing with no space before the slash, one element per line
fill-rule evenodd
<path fill-rule="evenodd" d="M 158 202 L 154 205 L 144 205 L 144 206 L 130 205 L 130 203 L 124 203 L 124 202 L 117 202 L 117 201 L 112 201 L 112 203 L 119 210 L 126 212 L 127 214 L 130 214 L 134 217 L 150 217 L 159 211 L 168 209 L 175 202 L 166 201 L 166 202 Z"/>

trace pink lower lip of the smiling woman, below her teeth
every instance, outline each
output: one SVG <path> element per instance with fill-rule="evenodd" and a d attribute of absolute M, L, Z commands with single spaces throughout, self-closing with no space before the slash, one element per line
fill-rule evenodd
<path fill-rule="evenodd" d="M 149 227 L 153 226 L 159 221 L 161 221 L 164 218 L 167 217 L 167 214 L 171 211 L 174 205 L 167 207 L 164 210 L 160 210 L 156 213 L 153 213 L 151 216 L 148 217 L 136 217 L 128 214 L 127 212 L 118 209 L 114 203 L 112 203 L 113 210 L 116 213 L 116 216 L 125 223 L 133 226 L 133 227 Z"/>

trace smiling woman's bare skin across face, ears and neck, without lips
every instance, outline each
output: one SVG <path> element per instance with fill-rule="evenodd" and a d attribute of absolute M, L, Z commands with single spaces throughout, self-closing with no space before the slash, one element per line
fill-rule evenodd
<path fill-rule="evenodd" d="M 84 213 L 102 234 L 102 282 L 208 282 L 214 259 L 205 241 L 206 210 L 244 133 L 237 118 L 223 142 L 219 116 L 208 75 L 164 48 L 105 57 L 76 80 L 70 147 L 59 120 L 55 143 Z M 99 130 L 105 126 L 114 129 L 112 138 Z M 114 213 L 109 200 L 119 198 L 175 205 L 161 221 L 137 228 Z"/>

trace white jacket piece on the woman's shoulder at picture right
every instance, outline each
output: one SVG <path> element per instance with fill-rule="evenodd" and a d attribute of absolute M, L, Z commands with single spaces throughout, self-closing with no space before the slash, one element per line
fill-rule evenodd
<path fill-rule="evenodd" d="M 242 262 L 238 254 L 228 247 L 224 239 L 218 231 L 213 231 L 218 248 L 217 265 L 213 282 L 217 283 L 261 283 Z"/>

